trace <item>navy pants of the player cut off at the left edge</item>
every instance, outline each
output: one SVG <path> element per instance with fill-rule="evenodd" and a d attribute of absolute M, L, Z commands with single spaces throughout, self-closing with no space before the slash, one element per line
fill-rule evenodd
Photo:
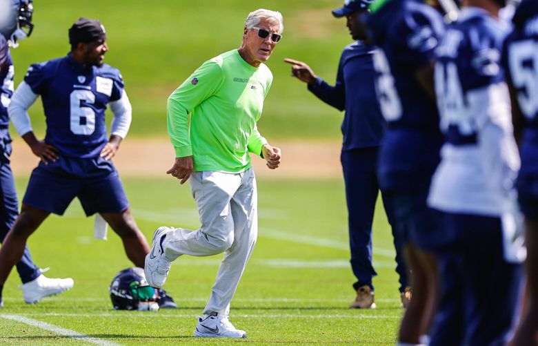
<path fill-rule="evenodd" d="M 0 133 L 6 133 L 7 129 L 1 128 Z M 17 200 L 17 191 L 11 171 L 9 155 L 11 153 L 10 137 L 0 137 L 0 242 L 6 238 L 13 222 L 19 215 L 19 200 Z M 35 265 L 30 256 L 28 245 L 24 248 L 23 257 L 17 262 L 17 271 L 24 283 L 30 282 L 41 275 L 39 267 Z"/>

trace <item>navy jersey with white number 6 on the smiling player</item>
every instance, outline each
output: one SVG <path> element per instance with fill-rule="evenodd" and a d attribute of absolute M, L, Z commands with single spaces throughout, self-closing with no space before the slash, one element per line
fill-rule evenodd
<path fill-rule="evenodd" d="M 119 70 L 79 64 L 70 55 L 28 68 L 24 77 L 41 95 L 45 140 L 68 157 L 95 157 L 108 142 L 105 110 L 123 94 Z"/>

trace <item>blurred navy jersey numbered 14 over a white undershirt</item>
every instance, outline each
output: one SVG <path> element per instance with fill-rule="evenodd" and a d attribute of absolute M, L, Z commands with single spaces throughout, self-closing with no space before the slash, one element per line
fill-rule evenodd
<path fill-rule="evenodd" d="M 452 145 L 477 142 L 480 104 L 468 92 L 504 81 L 501 46 L 510 27 L 479 8 L 464 8 L 437 49 L 435 89 L 441 130 Z M 483 102 L 490 100 L 484 99 Z"/>

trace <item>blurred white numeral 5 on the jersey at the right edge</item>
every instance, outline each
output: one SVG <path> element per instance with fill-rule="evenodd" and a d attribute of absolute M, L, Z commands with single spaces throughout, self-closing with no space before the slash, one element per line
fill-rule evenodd
<path fill-rule="evenodd" d="M 514 86 L 523 89 L 517 93 L 519 108 L 530 119 L 538 111 L 538 42 L 526 40 L 510 44 L 508 65 Z"/>

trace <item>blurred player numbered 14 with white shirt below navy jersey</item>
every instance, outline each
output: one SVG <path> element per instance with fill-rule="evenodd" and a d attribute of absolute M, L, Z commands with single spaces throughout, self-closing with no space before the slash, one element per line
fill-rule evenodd
<path fill-rule="evenodd" d="M 510 29 L 498 17 L 504 2 L 464 1 L 437 49 L 435 90 L 446 143 L 428 204 L 440 211 L 446 251 L 439 257 L 442 294 L 430 345 L 502 345 L 515 320 L 524 252 L 513 184 L 519 153 L 500 67 Z"/>

